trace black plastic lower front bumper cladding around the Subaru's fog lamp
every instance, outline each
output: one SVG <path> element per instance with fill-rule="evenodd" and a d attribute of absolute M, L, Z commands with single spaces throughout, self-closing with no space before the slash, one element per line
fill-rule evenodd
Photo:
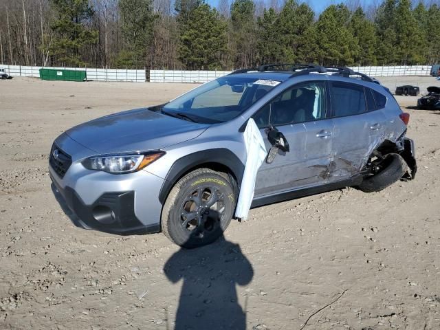
<path fill-rule="evenodd" d="M 151 234 L 159 232 L 159 224 L 144 225 L 135 215 L 135 192 L 104 192 L 87 205 L 70 187 L 61 188 L 52 177 L 52 192 L 72 223 L 84 229 L 111 234 Z"/>

